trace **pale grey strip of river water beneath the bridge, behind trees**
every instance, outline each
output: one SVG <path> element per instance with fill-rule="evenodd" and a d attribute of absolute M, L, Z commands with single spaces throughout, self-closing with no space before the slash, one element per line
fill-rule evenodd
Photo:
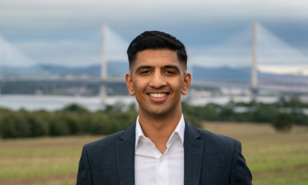
<path fill-rule="evenodd" d="M 187 96 L 183 96 L 187 98 Z M 259 96 L 257 98 L 260 102 L 272 103 L 278 101 L 277 96 Z M 251 97 L 249 95 L 243 96 L 208 96 L 208 97 L 193 97 L 189 99 L 191 105 L 205 105 L 207 103 L 226 104 L 229 101 L 249 102 Z M 135 96 L 108 96 L 106 104 L 116 104 L 123 102 L 124 104 L 136 103 Z M 66 105 L 77 103 L 88 110 L 95 111 L 104 108 L 100 103 L 99 96 L 59 96 L 59 95 L 0 95 L 0 107 L 18 110 L 24 108 L 27 110 L 58 110 Z"/>

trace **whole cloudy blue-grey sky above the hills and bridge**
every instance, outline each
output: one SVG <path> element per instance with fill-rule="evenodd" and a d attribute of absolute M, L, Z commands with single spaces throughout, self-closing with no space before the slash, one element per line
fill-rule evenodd
<path fill-rule="evenodd" d="M 288 61 L 303 61 L 308 56 L 307 10 L 307 0 L 0 0 L 0 41 L 15 48 L 5 54 L 12 59 L 0 64 L 98 64 L 105 24 L 114 50 L 110 60 L 125 58 L 138 34 L 160 30 L 180 39 L 196 64 L 249 66 L 251 44 L 245 41 L 253 20 L 263 30 L 259 53 L 271 48 L 276 56 L 290 52 Z"/>

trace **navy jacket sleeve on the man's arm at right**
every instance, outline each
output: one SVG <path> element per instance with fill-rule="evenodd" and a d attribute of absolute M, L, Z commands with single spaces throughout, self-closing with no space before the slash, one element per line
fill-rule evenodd
<path fill-rule="evenodd" d="M 252 185 L 252 175 L 242 155 L 241 144 L 235 142 L 230 185 Z"/>

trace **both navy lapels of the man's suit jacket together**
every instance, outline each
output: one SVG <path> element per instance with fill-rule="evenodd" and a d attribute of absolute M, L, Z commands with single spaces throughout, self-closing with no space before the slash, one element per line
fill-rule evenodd
<path fill-rule="evenodd" d="M 136 124 L 123 131 L 122 141 L 116 144 L 117 167 L 120 185 L 135 184 Z M 184 131 L 184 185 L 199 185 L 203 141 L 198 140 L 197 129 L 185 121 Z"/>

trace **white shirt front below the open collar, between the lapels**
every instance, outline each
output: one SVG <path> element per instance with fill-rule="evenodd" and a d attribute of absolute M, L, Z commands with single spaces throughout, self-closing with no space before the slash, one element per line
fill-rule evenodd
<path fill-rule="evenodd" d="M 180 143 L 168 146 L 161 154 L 151 143 L 143 143 L 135 152 L 136 185 L 183 185 L 184 148 Z"/>

